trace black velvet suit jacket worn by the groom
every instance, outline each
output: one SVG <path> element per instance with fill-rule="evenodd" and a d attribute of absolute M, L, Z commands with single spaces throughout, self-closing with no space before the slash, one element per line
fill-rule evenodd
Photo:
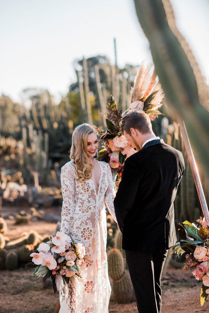
<path fill-rule="evenodd" d="M 175 244 L 174 199 L 183 172 L 183 154 L 162 139 L 125 161 L 114 200 L 123 249 L 165 251 Z"/>

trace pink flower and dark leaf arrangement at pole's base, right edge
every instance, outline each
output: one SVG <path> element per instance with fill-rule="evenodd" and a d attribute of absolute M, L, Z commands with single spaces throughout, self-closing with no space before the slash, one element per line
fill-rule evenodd
<path fill-rule="evenodd" d="M 197 219 L 197 225 L 188 221 L 179 224 L 178 233 L 180 242 L 175 244 L 172 253 L 185 255 L 182 269 L 192 270 L 197 280 L 203 281 L 200 303 L 203 306 L 209 294 L 209 223 L 202 218 Z"/>

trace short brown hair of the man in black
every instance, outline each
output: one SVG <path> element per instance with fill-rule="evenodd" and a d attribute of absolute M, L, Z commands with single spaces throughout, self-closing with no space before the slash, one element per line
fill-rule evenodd
<path fill-rule="evenodd" d="M 139 109 L 129 111 L 122 119 L 120 131 L 122 133 L 126 131 L 130 135 L 131 128 L 138 129 L 141 134 L 152 132 L 152 124 L 149 116 Z"/>

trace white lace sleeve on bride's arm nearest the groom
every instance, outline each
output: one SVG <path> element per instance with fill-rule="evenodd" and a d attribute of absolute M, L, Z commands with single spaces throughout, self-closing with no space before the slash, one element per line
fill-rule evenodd
<path fill-rule="evenodd" d="M 114 221 L 117 223 L 117 219 L 115 216 L 115 208 L 114 208 L 114 198 L 115 198 L 115 187 L 114 187 L 114 183 L 113 183 L 113 179 L 112 179 L 112 172 L 111 172 L 111 168 L 109 166 L 109 164 L 107 164 L 107 190 L 105 192 L 105 204 L 108 208 L 108 211 L 110 212 L 110 214 L 112 215 Z"/>

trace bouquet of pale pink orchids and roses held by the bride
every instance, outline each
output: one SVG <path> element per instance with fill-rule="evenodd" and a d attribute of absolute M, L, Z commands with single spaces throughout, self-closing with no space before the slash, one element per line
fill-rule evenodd
<path fill-rule="evenodd" d="M 74 277 L 81 277 L 80 267 L 90 262 L 85 254 L 81 243 L 72 243 L 70 236 L 58 231 L 50 241 L 39 245 L 37 252 L 30 255 L 32 262 L 27 265 L 38 265 L 32 276 L 43 276 L 43 282 L 51 278 L 55 292 L 61 291 L 66 282 L 69 296 L 73 297 Z"/>

